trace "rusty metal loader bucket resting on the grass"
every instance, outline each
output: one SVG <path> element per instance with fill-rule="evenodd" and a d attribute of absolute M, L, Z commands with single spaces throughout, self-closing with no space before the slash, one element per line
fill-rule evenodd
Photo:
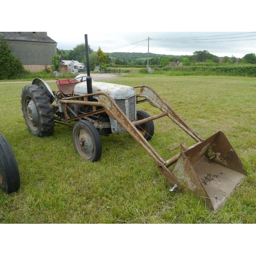
<path fill-rule="evenodd" d="M 172 174 L 188 190 L 217 211 L 245 178 L 245 170 L 226 136 L 218 132 L 182 152 Z"/>

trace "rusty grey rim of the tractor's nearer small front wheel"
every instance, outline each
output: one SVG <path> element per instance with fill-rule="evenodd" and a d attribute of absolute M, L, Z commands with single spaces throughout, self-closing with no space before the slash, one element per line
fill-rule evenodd
<path fill-rule="evenodd" d="M 76 148 L 85 159 L 91 159 L 94 153 L 94 144 L 88 131 L 80 128 L 76 132 Z"/>

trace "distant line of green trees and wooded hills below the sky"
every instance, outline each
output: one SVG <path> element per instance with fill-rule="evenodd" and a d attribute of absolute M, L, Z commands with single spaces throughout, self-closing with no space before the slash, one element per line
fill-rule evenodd
<path fill-rule="evenodd" d="M 101 51 L 100 47 L 98 51 Z M 98 52 L 97 51 L 97 52 Z M 84 44 L 77 45 L 73 50 L 68 52 L 61 51 L 63 56 L 66 56 L 69 60 L 78 60 L 79 62 L 86 63 L 85 60 L 85 46 Z M 96 52 L 96 53 L 97 53 Z M 124 53 L 124 52 L 113 52 L 113 53 L 103 53 L 102 51 L 98 55 L 101 56 L 101 60 L 103 62 L 97 61 L 97 57 L 95 59 L 95 53 L 93 49 L 89 48 L 89 58 L 90 58 L 90 66 L 95 67 L 97 65 L 102 66 L 103 63 L 105 65 L 124 65 L 124 66 L 146 66 L 147 65 L 147 53 Z M 150 66 L 158 66 L 165 67 L 170 64 L 170 62 L 182 62 L 182 65 L 190 66 L 197 65 L 197 63 L 204 63 L 206 66 L 213 65 L 216 66 L 218 64 L 237 64 L 237 63 L 245 63 L 245 64 L 256 64 L 256 55 L 254 53 L 248 53 L 243 58 L 237 58 L 235 56 L 224 56 L 219 57 L 214 54 L 209 53 L 206 50 L 203 51 L 195 51 L 193 55 L 185 55 L 185 56 L 175 56 L 175 55 L 161 55 L 149 53 L 149 65 Z"/>

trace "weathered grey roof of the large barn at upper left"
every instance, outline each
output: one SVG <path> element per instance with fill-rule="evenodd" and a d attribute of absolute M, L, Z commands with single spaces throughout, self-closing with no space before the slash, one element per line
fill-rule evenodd
<path fill-rule="evenodd" d="M 26 35 L 23 32 L 0 32 L 0 34 L 12 41 L 52 42 L 56 44 L 56 41 L 50 38 L 46 32 L 31 32 L 31 35 Z"/>

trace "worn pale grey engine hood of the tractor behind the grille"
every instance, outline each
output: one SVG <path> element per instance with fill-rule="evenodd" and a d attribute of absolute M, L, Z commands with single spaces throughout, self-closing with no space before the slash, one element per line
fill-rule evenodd
<path fill-rule="evenodd" d="M 113 99 L 129 99 L 135 95 L 135 90 L 129 86 L 122 86 L 121 84 L 106 83 L 106 82 L 92 82 L 93 93 L 105 92 Z M 87 94 L 87 82 L 80 82 L 76 84 L 74 94 Z"/>

